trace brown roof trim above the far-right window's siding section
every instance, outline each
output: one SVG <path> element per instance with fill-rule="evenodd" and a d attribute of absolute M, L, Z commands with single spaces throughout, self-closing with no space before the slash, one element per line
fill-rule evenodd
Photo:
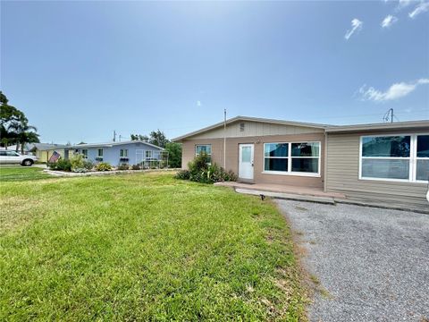
<path fill-rule="evenodd" d="M 406 121 L 395 123 L 368 123 L 356 125 L 339 125 L 326 128 L 327 133 L 341 133 L 352 131 L 374 131 L 374 130 L 407 130 L 407 129 L 425 129 L 429 131 L 429 120 Z"/>

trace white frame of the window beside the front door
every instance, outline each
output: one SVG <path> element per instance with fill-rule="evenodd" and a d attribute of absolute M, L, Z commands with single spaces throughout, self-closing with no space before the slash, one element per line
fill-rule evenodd
<path fill-rule="evenodd" d="M 292 157 L 292 144 L 294 143 L 317 143 L 319 145 L 319 156 L 318 157 Z M 288 157 L 266 157 L 266 158 L 285 158 L 288 159 L 288 171 L 270 171 L 265 170 L 265 144 L 288 144 Z M 290 142 L 264 142 L 264 151 L 263 151 L 263 171 L 262 174 L 280 174 L 280 175 L 296 175 L 296 176 L 309 176 L 320 178 L 320 167 L 322 160 L 322 142 L 321 141 L 290 141 Z M 317 158 L 317 173 L 306 173 L 299 171 L 292 171 L 292 158 Z"/>

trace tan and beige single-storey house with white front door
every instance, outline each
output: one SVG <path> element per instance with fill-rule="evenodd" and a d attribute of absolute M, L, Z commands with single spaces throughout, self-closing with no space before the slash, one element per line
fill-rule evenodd
<path fill-rule="evenodd" d="M 205 151 L 240 182 L 427 205 L 429 120 L 334 126 L 237 116 L 174 141 L 184 167 Z"/>

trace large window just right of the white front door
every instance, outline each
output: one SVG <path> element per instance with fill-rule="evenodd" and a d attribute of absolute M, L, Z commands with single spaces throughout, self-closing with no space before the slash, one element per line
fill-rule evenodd
<path fill-rule="evenodd" d="M 320 142 L 264 144 L 264 171 L 319 175 Z"/>

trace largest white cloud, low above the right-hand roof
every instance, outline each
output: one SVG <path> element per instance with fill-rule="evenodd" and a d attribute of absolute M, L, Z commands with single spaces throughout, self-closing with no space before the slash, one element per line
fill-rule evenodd
<path fill-rule="evenodd" d="M 420 79 L 414 82 L 400 82 L 391 85 L 386 91 L 374 89 L 373 87 L 366 88 L 366 85 L 359 89 L 362 95 L 362 100 L 372 100 L 374 102 L 385 102 L 389 100 L 406 97 L 409 93 L 414 91 L 418 85 L 429 84 L 429 79 Z"/>

